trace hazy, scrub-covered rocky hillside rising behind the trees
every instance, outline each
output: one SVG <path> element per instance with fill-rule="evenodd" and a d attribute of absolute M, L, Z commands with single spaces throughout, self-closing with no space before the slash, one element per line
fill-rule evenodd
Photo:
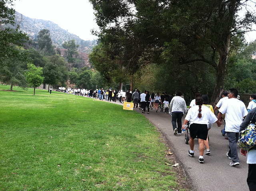
<path fill-rule="evenodd" d="M 20 26 L 20 30 L 22 32 L 27 33 L 29 37 L 34 41 L 37 41 L 37 35 L 40 30 L 48 29 L 50 30 L 50 37 L 52 39 L 52 42 L 56 47 L 62 48 L 62 43 L 64 41 L 72 39 L 76 41 L 76 44 L 79 44 L 78 51 L 80 52 L 90 52 L 92 47 L 96 45 L 97 40 L 83 40 L 77 35 L 69 33 L 68 31 L 60 28 L 58 24 L 55 24 L 54 22 L 51 21 L 46 21 L 42 19 L 32 19 L 18 12 L 16 12 L 15 21 L 16 24 Z M 8 27 L 14 28 L 16 26 L 8 25 Z"/>

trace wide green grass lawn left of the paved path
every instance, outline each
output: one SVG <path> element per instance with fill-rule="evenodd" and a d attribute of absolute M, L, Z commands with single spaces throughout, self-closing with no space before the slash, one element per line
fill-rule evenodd
<path fill-rule="evenodd" d="M 59 92 L 3 91 L 0 190 L 184 190 L 160 133 L 121 105 Z"/>

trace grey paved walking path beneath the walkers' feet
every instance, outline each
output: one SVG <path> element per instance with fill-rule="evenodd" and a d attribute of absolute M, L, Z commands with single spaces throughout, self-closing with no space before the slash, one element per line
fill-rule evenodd
<path fill-rule="evenodd" d="M 119 102 L 114 103 L 122 105 Z M 134 111 L 142 114 L 139 108 L 134 108 Z M 172 116 L 159 111 L 150 110 L 150 114 L 145 113 L 142 115 L 148 118 L 166 138 L 170 148 L 172 148 L 172 152 L 176 155 L 177 162 L 184 169 L 188 180 L 192 183 L 193 191 L 249 190 L 246 183 L 248 173 L 247 157 L 242 156 L 240 149 L 237 148 L 240 165 L 236 167 L 229 165 L 231 159 L 228 159 L 226 156 L 228 140 L 224 139 L 220 132 L 224 125 L 218 127 L 214 123 L 212 126 L 209 131 L 211 154 L 208 156 L 204 155 L 204 163 L 200 164 L 198 161 L 199 146 L 197 139 L 195 140 L 194 147 L 195 156 L 192 158 L 187 154 L 190 147 L 188 144 L 185 144 L 185 133 L 175 136 L 172 129 Z M 184 118 L 182 118 L 182 124 L 183 122 Z"/>

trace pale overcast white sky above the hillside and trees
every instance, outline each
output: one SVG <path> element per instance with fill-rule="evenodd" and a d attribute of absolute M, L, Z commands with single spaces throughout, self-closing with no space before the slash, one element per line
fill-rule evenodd
<path fill-rule="evenodd" d="M 255 3 L 248 3 L 251 6 L 248 8 L 255 12 Z M 52 21 L 81 39 L 97 39 L 90 32 L 92 29 L 98 30 L 98 26 L 94 20 L 92 4 L 88 0 L 16 0 L 13 8 L 29 18 Z M 253 29 L 256 30 L 255 25 Z M 244 36 L 247 42 L 254 41 L 256 31 L 248 32 Z"/>

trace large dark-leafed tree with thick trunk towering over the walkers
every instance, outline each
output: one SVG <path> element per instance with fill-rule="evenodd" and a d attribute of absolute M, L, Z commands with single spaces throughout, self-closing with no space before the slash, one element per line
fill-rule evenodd
<path fill-rule="evenodd" d="M 100 40 L 110 47 L 109 52 L 121 48 L 124 56 L 114 60 L 121 64 L 127 61 L 133 69 L 130 74 L 138 68 L 137 63 L 167 62 L 188 67 L 206 63 L 215 70 L 213 104 L 224 85 L 230 43 L 241 28 L 250 30 L 250 24 L 255 23 L 249 10 L 243 18 L 237 16 L 247 1 L 90 0 Z M 138 51 L 125 51 L 130 49 Z"/>

